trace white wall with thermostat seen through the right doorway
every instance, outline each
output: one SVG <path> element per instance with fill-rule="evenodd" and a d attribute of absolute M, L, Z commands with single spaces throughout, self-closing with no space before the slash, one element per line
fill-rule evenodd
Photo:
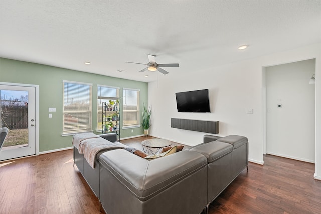
<path fill-rule="evenodd" d="M 266 68 L 267 154 L 315 162 L 314 73 L 315 59 Z"/>

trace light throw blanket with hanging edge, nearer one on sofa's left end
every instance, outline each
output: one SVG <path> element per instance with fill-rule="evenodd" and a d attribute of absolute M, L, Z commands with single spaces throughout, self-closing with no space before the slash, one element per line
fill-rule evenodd
<path fill-rule="evenodd" d="M 115 143 L 109 142 L 101 137 L 90 138 L 83 140 L 79 144 L 78 151 L 82 151 L 85 159 L 92 168 L 95 168 L 96 155 L 100 151 L 112 150 L 112 149 L 123 149 L 123 146 L 116 145 Z M 79 152 L 80 153 L 80 152 Z"/>

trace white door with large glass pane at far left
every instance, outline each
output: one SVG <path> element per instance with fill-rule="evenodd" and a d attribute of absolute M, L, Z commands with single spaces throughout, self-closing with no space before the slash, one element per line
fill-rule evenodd
<path fill-rule="evenodd" d="M 36 87 L 0 83 L 0 125 L 9 128 L 0 160 L 36 154 Z"/>

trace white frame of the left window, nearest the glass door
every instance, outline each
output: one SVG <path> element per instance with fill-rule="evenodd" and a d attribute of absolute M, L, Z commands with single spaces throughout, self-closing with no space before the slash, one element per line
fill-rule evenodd
<path fill-rule="evenodd" d="M 63 97 L 63 102 L 62 102 L 62 134 L 61 136 L 70 136 L 70 135 L 74 135 L 76 133 L 84 133 L 84 132 L 93 132 L 92 129 L 92 83 L 84 83 L 84 82 L 75 82 L 75 81 L 69 81 L 69 80 L 63 80 L 62 81 L 62 97 Z M 78 85 L 85 85 L 85 86 L 89 86 L 89 110 L 65 110 L 65 84 L 78 84 Z M 80 97 L 79 97 L 80 98 Z M 87 125 L 87 128 L 85 129 L 72 129 L 70 131 L 65 129 L 65 114 L 67 113 L 84 113 L 84 112 L 88 112 L 89 114 L 87 116 L 89 116 L 89 124 Z M 77 124 L 79 125 L 79 123 Z"/>

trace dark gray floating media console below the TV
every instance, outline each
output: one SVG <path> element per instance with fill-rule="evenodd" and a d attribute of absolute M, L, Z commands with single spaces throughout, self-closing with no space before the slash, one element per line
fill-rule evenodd
<path fill-rule="evenodd" d="M 171 118 L 171 127 L 190 131 L 218 134 L 219 121 L 187 120 Z"/>

